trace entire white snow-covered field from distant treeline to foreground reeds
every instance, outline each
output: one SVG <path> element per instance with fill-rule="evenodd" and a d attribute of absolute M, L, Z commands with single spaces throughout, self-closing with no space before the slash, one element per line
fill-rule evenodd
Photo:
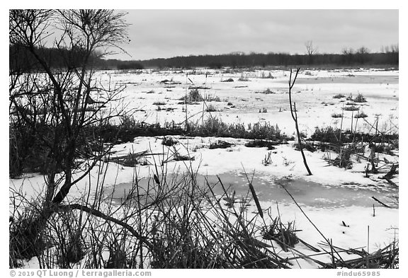
<path fill-rule="evenodd" d="M 266 78 L 272 77 L 273 78 Z M 108 86 L 125 84 L 123 92 L 126 109 L 135 108 L 135 119 L 140 122 L 164 124 L 165 122 L 183 123 L 186 119 L 186 105 L 179 104 L 180 98 L 190 91 L 190 87 L 199 89 L 202 95 L 212 95 L 220 98 L 219 102 L 210 102 L 216 110 L 212 117 L 220 117 L 228 123 L 254 124 L 269 122 L 278 124 L 282 132 L 293 135 L 295 125 L 290 117 L 288 105 L 288 71 L 234 71 L 195 69 L 188 71 L 102 71 L 97 73 L 98 81 Z M 378 69 L 361 70 L 307 70 L 300 71 L 293 88 L 293 101 L 296 103 L 300 131 L 310 136 L 314 127 L 340 127 L 340 119 L 331 117 L 333 113 L 341 113 L 346 102 L 345 98 L 333 98 L 339 93 L 353 95 L 361 93 L 367 100 L 358 105 L 368 117 L 352 118 L 351 111 L 344 111 L 343 129 L 373 132 L 373 125 L 378 117 L 378 129 L 382 132 L 398 132 L 399 112 L 399 71 Z M 225 82 L 233 79 L 231 82 Z M 239 81 L 246 80 L 246 81 Z M 166 82 L 164 82 L 167 80 Z M 266 91 L 273 93 L 260 93 Z M 96 98 L 96 96 L 95 96 Z M 162 103 L 162 104 L 154 104 Z M 160 107 L 160 110 L 158 110 Z M 203 103 L 187 106 L 187 117 L 191 120 L 201 120 L 210 116 L 203 112 Z M 265 109 L 266 112 L 259 112 Z M 354 112 L 353 115 L 355 115 Z M 353 168 L 344 170 L 328 166 L 324 161 L 327 153 L 322 151 L 305 151 L 307 163 L 313 175 L 307 175 L 302 163 L 300 151 L 293 147 L 294 142 L 276 146 L 271 150 L 271 163 L 263 165 L 263 159 L 268 155 L 266 148 L 249 148 L 244 146 L 246 139 L 215 138 L 215 137 L 174 137 L 178 144 L 164 146 L 162 137 L 136 137 L 133 142 L 118 144 L 113 148 L 113 156 L 123 156 L 129 153 L 147 151 L 155 155 L 147 156 L 145 165 L 137 165 L 137 178 L 147 179 L 154 173 L 154 163 L 161 165 L 162 161 L 171 157 L 174 151 L 194 157 L 192 161 L 169 161 L 166 163 L 167 173 L 180 173 L 188 168 L 195 169 L 201 177 L 220 175 L 226 184 L 232 185 L 237 191 L 237 197 L 247 190 L 246 172 L 254 175 L 254 188 L 259 195 L 261 207 L 271 207 L 271 214 L 278 215 L 283 222 L 294 221 L 296 228 L 301 230 L 297 235 L 307 243 L 318 246 L 322 236 L 296 207 L 283 188 L 290 192 L 302 206 L 307 216 L 322 233 L 331 238 L 333 245 L 341 248 L 364 248 L 367 250 L 368 226 L 370 227 L 369 250 L 373 252 L 395 238 L 395 228 L 399 226 L 398 205 L 393 198 L 398 195 L 398 175 L 390 185 L 380 179 L 382 174 L 364 177 L 367 161 L 354 161 Z M 210 143 L 217 140 L 232 144 L 227 149 L 209 149 Z M 367 150 L 368 152 L 368 150 Z M 333 154 L 334 156 L 334 154 Z M 366 154 L 368 156 L 368 153 Z M 398 163 L 398 152 L 395 156 L 380 154 L 380 161 Z M 135 169 L 120 166 L 113 162 L 101 162 L 103 169 L 107 168 L 104 186 L 108 190 L 115 186 L 118 190 L 125 189 L 132 183 Z M 96 180 L 98 167 L 91 171 L 91 180 L 81 180 L 70 192 L 71 197 L 79 197 L 87 192 L 92 180 Z M 77 173 L 80 175 L 80 173 Z M 200 179 L 199 179 L 200 180 Z M 201 179 L 203 182 L 203 179 Z M 209 179 L 210 180 L 210 179 Z M 44 186 L 42 175 L 27 174 L 26 178 L 10 180 L 11 188 L 21 189 L 27 195 L 33 196 Z M 122 190 L 123 191 L 123 190 Z M 118 192 L 121 192 L 118 190 Z M 382 207 L 371 197 L 390 204 L 391 208 Z M 125 197 L 125 196 L 123 196 Z M 373 207 L 375 216 L 373 216 Z M 252 205 L 249 209 L 255 210 Z M 346 223 L 344 226 L 342 223 Z M 397 235 L 398 236 L 398 235 Z M 310 253 L 306 247 L 298 250 Z M 290 257 L 292 253 L 285 254 Z M 316 267 L 310 261 L 300 260 L 297 267 Z M 28 266 L 29 267 L 29 266 Z M 33 267 L 33 266 L 32 266 Z"/>

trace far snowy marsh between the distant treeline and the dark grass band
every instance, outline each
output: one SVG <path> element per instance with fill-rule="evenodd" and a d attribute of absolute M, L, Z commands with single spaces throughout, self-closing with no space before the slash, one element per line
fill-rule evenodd
<path fill-rule="evenodd" d="M 189 71 L 106 71 L 99 73 L 103 81 L 120 83 L 127 86 L 128 109 L 141 110 L 135 114 L 137 120 L 148 123 L 174 121 L 182 123 L 186 118 L 185 105 L 177 104 L 180 98 L 190 90 L 203 87 L 202 95 L 217 96 L 221 102 L 211 102 L 217 108 L 212 116 L 221 117 L 224 122 L 254 124 L 271 122 L 278 124 L 286 134 L 295 131 L 288 105 L 289 71 L 237 71 L 196 69 Z M 262 78 L 268 77 L 273 79 Z M 368 115 L 367 122 L 375 122 L 375 115 L 380 114 L 378 128 L 387 130 L 398 124 L 398 76 L 399 71 L 361 70 L 307 70 L 300 71 L 293 88 L 293 102 L 297 103 L 301 132 L 312 134 L 314 127 L 340 127 L 339 119 L 331 117 L 341 113 L 341 108 L 348 101 L 333 98 L 339 93 L 356 97 L 361 93 L 367 103 L 358 105 Z M 239 79 L 248 81 L 239 81 Z M 233 79 L 233 82 L 222 82 Z M 169 82 L 163 83 L 161 81 Z M 106 84 L 106 86 L 108 86 Z M 259 93 L 269 89 L 273 93 Z M 344 98 L 342 99 L 344 100 Z M 154 103 L 165 103 L 154 105 Z M 232 103 L 232 105 L 227 105 Z M 209 104 L 209 103 L 208 103 Z M 157 110 L 160 106 L 161 110 Z M 234 107 L 232 107 L 234 106 Z M 171 111 L 167 109 L 170 108 Z M 259 112 L 265 108 L 267 112 Z M 174 110 L 173 110 L 174 109 Z M 188 117 L 199 120 L 203 105 L 188 105 Z M 207 113 L 208 114 L 208 113 Z M 196 115 L 196 116 L 193 116 Z M 354 112 L 356 115 L 356 112 Z M 351 112 L 345 111 L 343 128 L 351 126 Z M 356 120 L 353 120 L 353 127 Z M 369 125 L 363 120 L 358 122 L 358 130 L 367 130 Z"/>

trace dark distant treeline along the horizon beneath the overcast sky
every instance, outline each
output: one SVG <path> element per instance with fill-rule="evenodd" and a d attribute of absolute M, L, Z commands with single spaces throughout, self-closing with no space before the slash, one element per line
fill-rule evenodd
<path fill-rule="evenodd" d="M 57 50 L 43 48 L 40 52 L 45 61 L 55 68 L 64 68 L 69 59 L 72 64 L 81 64 L 77 59 L 81 50 Z M 9 47 L 10 68 L 40 68 L 31 54 L 18 46 Z M 97 54 L 91 57 L 98 69 L 146 69 L 146 68 L 193 68 L 207 67 L 219 69 L 223 66 L 232 68 L 250 66 L 398 66 L 398 48 L 386 47 L 383 52 L 370 53 L 364 47 L 357 51 L 343 50 L 341 54 L 287 54 L 287 53 L 232 53 L 219 55 L 196 55 L 173 58 L 149 59 L 143 61 L 122 61 L 118 59 L 101 59 Z"/>

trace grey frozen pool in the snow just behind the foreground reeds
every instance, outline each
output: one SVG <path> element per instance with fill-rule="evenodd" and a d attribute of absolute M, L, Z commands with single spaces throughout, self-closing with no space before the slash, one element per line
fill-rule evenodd
<path fill-rule="evenodd" d="M 249 191 L 248 181 L 244 174 L 237 173 L 223 173 L 218 175 L 225 190 L 229 194 L 235 191 L 235 198 L 242 199 L 242 197 L 248 196 L 251 198 L 251 192 Z M 290 192 L 295 198 L 298 204 L 302 204 L 307 207 L 319 207 L 319 208 L 339 208 L 339 207 L 372 207 L 378 205 L 372 197 L 378 199 L 387 199 L 392 195 L 398 194 L 398 189 L 390 186 L 383 185 L 322 185 L 301 178 L 296 179 L 276 179 L 273 177 L 254 177 L 252 179 L 252 185 L 256 191 L 256 195 L 261 202 L 273 202 L 278 204 L 293 204 L 293 200 L 288 193 L 283 190 L 282 186 Z M 168 175 L 166 180 L 181 180 L 182 178 L 176 175 Z M 222 195 L 223 190 L 217 176 L 215 175 L 197 175 L 198 186 L 203 190 L 208 190 L 206 186 L 206 180 L 208 184 L 213 186 L 215 195 Z M 142 178 L 138 181 L 141 188 L 147 188 L 157 186 L 153 179 Z M 106 195 L 113 193 L 113 199 L 115 202 L 120 202 L 120 199 L 128 197 L 129 192 L 132 190 L 132 183 L 119 183 L 113 188 L 106 188 Z"/>

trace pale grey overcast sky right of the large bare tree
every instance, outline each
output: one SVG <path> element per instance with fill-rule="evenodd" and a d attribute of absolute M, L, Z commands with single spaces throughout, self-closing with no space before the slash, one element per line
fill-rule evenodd
<path fill-rule="evenodd" d="M 398 40 L 397 10 L 127 10 L 131 55 L 152 59 L 230 52 L 321 53 L 365 46 L 371 52 Z"/>

